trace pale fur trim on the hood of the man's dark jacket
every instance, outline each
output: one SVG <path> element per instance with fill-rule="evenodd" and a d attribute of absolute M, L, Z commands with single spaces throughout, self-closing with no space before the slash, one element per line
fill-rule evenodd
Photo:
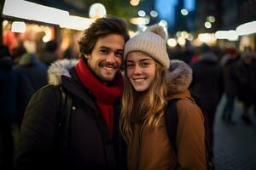
<path fill-rule="evenodd" d="M 48 82 L 49 84 L 58 85 L 61 83 L 61 75 L 71 77 L 69 71 L 76 65 L 78 59 L 61 59 L 49 66 Z"/>

